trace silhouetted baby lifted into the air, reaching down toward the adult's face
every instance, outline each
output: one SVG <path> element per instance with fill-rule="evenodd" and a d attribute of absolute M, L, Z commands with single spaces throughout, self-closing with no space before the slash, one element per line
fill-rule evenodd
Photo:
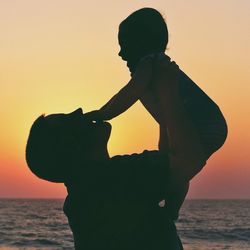
<path fill-rule="evenodd" d="M 157 61 L 164 60 L 166 64 L 171 64 L 171 59 L 164 54 L 168 44 L 168 29 L 162 15 L 152 8 L 135 11 L 120 24 L 118 39 L 121 47 L 119 56 L 127 62 L 131 80 L 100 110 L 87 115 L 95 120 L 110 120 L 140 100 L 159 123 L 160 133 L 165 133 L 169 121 L 159 104 L 159 95 L 163 93 L 158 93 L 156 86 L 164 79 L 157 67 Z M 149 77 L 151 74 L 152 77 Z M 165 84 L 168 84 L 168 81 L 169 79 L 166 79 Z M 181 70 L 178 91 L 187 115 L 197 130 L 203 153 L 208 159 L 223 145 L 227 137 L 223 114 L 216 103 Z M 165 98 L 168 98 L 167 93 Z M 178 135 L 174 133 L 171 136 Z M 171 136 L 168 134 L 168 140 L 160 141 L 159 146 L 173 151 Z M 180 208 L 187 189 L 188 187 L 180 187 L 174 194 L 173 204 L 170 201 L 168 203 L 168 209 L 172 211 L 174 219 L 178 217 L 177 207 Z"/>

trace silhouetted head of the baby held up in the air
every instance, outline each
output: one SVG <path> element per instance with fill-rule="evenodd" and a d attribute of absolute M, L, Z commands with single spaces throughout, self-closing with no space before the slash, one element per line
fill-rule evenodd
<path fill-rule="evenodd" d="M 127 61 L 131 73 L 140 59 L 151 53 L 164 52 L 168 44 L 168 29 L 162 15 L 155 9 L 133 12 L 119 26 L 119 56 Z"/>

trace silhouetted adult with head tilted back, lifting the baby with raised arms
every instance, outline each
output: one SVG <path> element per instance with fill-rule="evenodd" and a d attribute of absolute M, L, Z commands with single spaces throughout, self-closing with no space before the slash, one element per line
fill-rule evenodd
<path fill-rule="evenodd" d="M 170 135 L 178 132 L 172 138 L 174 153 L 159 148 L 110 158 L 111 125 L 92 122 L 81 109 L 42 115 L 32 125 L 28 166 L 42 179 L 65 183 L 64 212 L 76 249 L 182 249 L 168 210 L 158 203 L 164 198 L 168 202 L 176 187 L 186 186 L 205 159 L 176 88 L 178 67 L 165 61 L 157 67 L 168 80 L 156 86 L 164 93 L 159 102 L 169 119 L 165 129 Z M 166 134 L 160 134 L 160 141 L 167 140 Z"/>

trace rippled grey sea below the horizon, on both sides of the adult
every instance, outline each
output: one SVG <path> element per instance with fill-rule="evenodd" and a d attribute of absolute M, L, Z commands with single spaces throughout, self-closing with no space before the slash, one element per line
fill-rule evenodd
<path fill-rule="evenodd" d="M 0 199 L 1 250 L 73 250 L 63 200 Z M 186 200 L 178 233 L 185 250 L 250 250 L 250 200 Z"/>

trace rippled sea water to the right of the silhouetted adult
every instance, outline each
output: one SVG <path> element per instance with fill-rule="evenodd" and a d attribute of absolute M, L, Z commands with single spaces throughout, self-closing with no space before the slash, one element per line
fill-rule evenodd
<path fill-rule="evenodd" d="M 187 200 L 176 225 L 185 250 L 250 250 L 250 200 Z"/>

